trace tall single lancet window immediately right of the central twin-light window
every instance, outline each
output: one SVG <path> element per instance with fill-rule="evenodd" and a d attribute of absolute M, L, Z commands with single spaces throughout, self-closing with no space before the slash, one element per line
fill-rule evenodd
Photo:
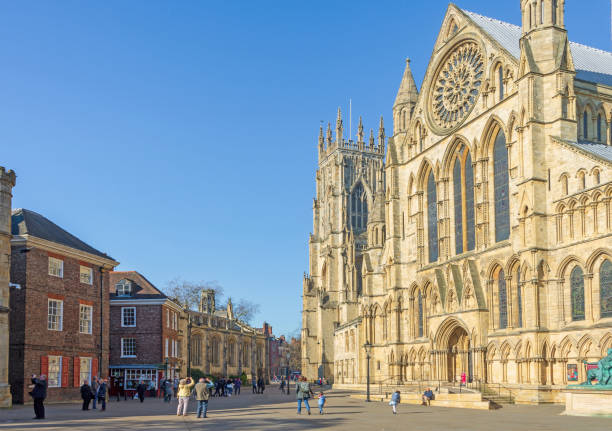
<path fill-rule="evenodd" d="M 495 196 L 495 242 L 510 237 L 510 192 L 508 185 L 506 136 L 497 132 L 493 147 L 493 184 Z"/>

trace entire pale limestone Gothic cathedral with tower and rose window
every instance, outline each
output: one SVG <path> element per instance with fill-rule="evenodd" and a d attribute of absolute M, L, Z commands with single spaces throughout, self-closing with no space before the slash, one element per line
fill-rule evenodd
<path fill-rule="evenodd" d="M 377 383 L 548 402 L 612 347 L 612 53 L 569 41 L 563 0 L 521 20 L 450 5 L 388 139 L 320 131 L 307 377 L 365 383 L 367 345 Z"/>

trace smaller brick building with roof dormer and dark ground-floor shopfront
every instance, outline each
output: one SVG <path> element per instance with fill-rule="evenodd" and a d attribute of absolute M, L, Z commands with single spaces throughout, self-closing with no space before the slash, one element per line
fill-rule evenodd
<path fill-rule="evenodd" d="M 178 377 L 182 309 L 136 271 L 111 272 L 110 283 L 111 393 L 133 395 L 140 380 L 155 392 Z"/>

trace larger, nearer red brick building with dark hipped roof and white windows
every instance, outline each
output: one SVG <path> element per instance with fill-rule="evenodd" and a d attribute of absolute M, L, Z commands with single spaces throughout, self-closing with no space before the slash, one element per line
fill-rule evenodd
<path fill-rule="evenodd" d="M 32 374 L 48 400 L 78 399 L 82 380 L 108 367 L 108 271 L 118 262 L 42 215 L 12 213 L 9 380 L 30 401 Z"/>

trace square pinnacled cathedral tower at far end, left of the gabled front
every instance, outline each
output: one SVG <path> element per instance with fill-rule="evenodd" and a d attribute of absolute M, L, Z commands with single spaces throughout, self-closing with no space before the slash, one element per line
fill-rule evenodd
<path fill-rule="evenodd" d="M 384 128 L 378 142 L 373 130 L 366 141 L 360 118 L 357 141 L 345 140 L 338 109 L 335 135 L 332 140 L 330 124 L 325 135 L 319 130 L 310 274 L 303 286 L 302 372 L 309 378 L 333 378 L 333 331 L 358 315 L 368 215 L 384 187 Z"/>

